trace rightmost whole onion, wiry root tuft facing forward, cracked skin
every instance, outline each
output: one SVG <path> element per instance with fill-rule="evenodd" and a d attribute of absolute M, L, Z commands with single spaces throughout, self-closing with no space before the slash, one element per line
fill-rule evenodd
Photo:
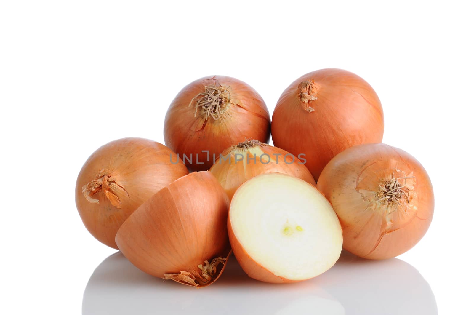
<path fill-rule="evenodd" d="M 399 183 L 399 204 L 387 194 L 393 178 Z M 387 259 L 406 252 L 425 235 L 433 217 L 433 187 L 426 170 L 407 152 L 383 143 L 338 154 L 316 187 L 339 217 L 344 249 L 363 258 Z"/>

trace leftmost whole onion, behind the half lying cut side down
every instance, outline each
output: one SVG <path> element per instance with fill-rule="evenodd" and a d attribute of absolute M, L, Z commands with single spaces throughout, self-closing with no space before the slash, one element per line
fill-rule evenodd
<path fill-rule="evenodd" d="M 118 139 L 98 148 L 84 163 L 75 188 L 76 207 L 87 230 L 118 249 L 115 234 L 128 216 L 165 185 L 188 174 L 182 162 L 171 163 L 177 160 L 169 148 L 142 138 Z"/>

